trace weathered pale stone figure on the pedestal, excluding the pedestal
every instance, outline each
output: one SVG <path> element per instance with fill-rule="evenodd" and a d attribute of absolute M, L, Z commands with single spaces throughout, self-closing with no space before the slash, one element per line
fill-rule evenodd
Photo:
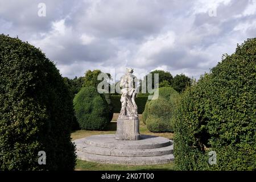
<path fill-rule="evenodd" d="M 133 69 L 127 68 L 126 75 L 121 77 L 121 111 L 119 118 L 129 119 L 138 118 L 138 109 L 135 103 L 135 97 L 137 96 L 137 78 L 132 75 Z"/>

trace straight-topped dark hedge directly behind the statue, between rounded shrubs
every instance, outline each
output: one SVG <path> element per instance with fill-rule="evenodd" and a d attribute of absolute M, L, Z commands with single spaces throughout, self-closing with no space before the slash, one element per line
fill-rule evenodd
<path fill-rule="evenodd" d="M 119 113 L 122 106 L 120 102 L 121 95 L 112 95 L 110 96 L 110 98 L 113 105 L 113 112 Z M 138 107 L 138 114 L 142 114 L 147 102 L 147 96 L 138 96 L 137 98 L 135 98 L 135 102 Z"/>

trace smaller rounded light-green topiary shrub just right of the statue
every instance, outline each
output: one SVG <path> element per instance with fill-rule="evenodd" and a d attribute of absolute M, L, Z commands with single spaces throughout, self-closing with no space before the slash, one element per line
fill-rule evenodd
<path fill-rule="evenodd" d="M 159 88 L 158 99 L 148 102 L 147 111 L 144 114 L 148 130 L 152 132 L 174 131 L 174 109 L 178 98 L 179 93 L 173 88 Z"/>

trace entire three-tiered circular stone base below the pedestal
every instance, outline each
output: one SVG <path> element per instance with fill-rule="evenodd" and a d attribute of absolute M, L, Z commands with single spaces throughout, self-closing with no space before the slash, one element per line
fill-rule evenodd
<path fill-rule="evenodd" d="M 114 134 L 74 140 L 77 158 L 98 163 L 148 165 L 174 160 L 172 140 L 141 135 L 140 140 L 116 140 Z"/>

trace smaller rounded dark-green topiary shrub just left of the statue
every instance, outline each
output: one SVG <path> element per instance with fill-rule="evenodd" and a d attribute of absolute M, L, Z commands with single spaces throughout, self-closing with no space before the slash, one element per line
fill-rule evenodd
<path fill-rule="evenodd" d="M 76 94 L 73 104 L 81 129 L 104 130 L 110 122 L 110 109 L 104 94 L 93 86 L 86 86 Z"/>

